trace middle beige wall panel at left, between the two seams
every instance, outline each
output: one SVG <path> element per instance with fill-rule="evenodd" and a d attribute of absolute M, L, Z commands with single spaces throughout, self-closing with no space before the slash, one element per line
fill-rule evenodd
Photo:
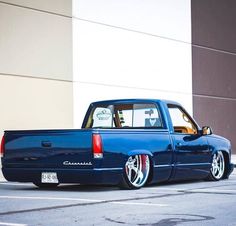
<path fill-rule="evenodd" d="M 72 81 L 71 21 L 0 3 L 0 72 Z"/>

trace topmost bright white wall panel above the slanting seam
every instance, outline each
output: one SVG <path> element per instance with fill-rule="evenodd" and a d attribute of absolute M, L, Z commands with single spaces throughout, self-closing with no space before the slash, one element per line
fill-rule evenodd
<path fill-rule="evenodd" d="M 191 43 L 190 0 L 73 0 L 73 16 Z"/>

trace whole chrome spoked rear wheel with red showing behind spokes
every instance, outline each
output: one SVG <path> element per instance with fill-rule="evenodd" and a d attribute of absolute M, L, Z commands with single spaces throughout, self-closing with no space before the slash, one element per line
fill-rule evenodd
<path fill-rule="evenodd" d="M 147 181 L 150 171 L 148 155 L 130 156 L 125 164 L 126 180 L 129 187 L 141 188 Z"/>

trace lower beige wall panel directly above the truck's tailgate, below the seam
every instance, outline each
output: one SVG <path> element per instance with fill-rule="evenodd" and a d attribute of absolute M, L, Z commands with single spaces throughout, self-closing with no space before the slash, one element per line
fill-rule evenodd
<path fill-rule="evenodd" d="M 73 85 L 20 76 L 0 76 L 0 128 L 73 127 Z"/>

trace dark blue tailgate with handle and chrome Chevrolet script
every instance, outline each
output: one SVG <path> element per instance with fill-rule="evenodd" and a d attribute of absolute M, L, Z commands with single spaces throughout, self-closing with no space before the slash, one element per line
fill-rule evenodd
<path fill-rule="evenodd" d="M 6 131 L 5 168 L 92 168 L 91 130 Z"/>

